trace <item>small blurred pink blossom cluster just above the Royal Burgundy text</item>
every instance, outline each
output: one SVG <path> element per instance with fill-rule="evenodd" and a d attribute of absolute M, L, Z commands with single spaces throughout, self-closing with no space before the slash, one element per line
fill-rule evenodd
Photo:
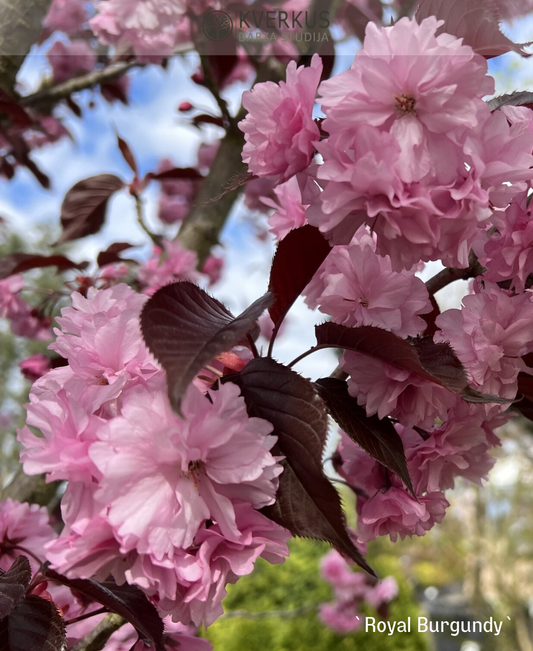
<path fill-rule="evenodd" d="M 322 558 L 320 573 L 332 586 L 335 601 L 321 604 L 319 617 L 337 633 L 350 633 L 364 625 L 361 604 L 380 609 L 398 595 L 398 584 L 392 576 L 376 581 L 362 572 L 354 572 L 335 550 Z"/>

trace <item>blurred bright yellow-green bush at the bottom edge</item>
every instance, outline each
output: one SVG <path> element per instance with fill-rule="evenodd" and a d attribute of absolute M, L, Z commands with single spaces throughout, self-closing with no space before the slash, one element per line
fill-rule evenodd
<path fill-rule="evenodd" d="M 426 638 L 417 633 L 391 637 L 357 631 L 337 635 L 317 618 L 316 606 L 332 600 L 329 585 L 320 578 L 319 561 L 327 553 L 323 543 L 293 540 L 290 558 L 283 565 L 269 565 L 261 559 L 254 572 L 229 586 L 224 601 L 226 615 L 206 633 L 215 651 L 427 651 Z M 392 556 L 376 556 L 372 566 L 380 576 L 393 574 L 400 594 L 391 604 L 390 618 L 401 621 L 419 614 L 409 586 L 402 579 L 398 561 Z M 296 609 L 309 610 L 297 614 Z M 232 611 L 273 613 L 261 618 L 234 617 Z M 367 614 L 376 616 L 368 609 Z"/>

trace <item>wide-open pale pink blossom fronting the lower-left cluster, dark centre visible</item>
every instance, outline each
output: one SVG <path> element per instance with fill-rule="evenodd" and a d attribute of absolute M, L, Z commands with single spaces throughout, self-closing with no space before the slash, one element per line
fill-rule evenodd
<path fill-rule="evenodd" d="M 272 426 L 248 418 L 235 385 L 211 393 L 212 403 L 191 387 L 182 421 L 170 408 L 164 378 L 151 384 L 124 396 L 121 416 L 90 446 L 102 473 L 95 498 L 109 504 L 109 521 L 128 550 L 162 558 L 173 547 L 190 547 L 208 519 L 237 540 L 232 499 L 256 508 L 275 499 L 281 467 L 269 452 Z"/>

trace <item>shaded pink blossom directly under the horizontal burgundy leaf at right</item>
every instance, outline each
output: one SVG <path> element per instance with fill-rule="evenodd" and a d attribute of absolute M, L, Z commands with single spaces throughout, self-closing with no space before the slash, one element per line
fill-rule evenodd
<path fill-rule="evenodd" d="M 404 425 L 430 428 L 455 404 L 448 389 L 362 353 L 346 351 L 341 366 L 350 375 L 350 395 L 369 416 L 392 416 Z"/>

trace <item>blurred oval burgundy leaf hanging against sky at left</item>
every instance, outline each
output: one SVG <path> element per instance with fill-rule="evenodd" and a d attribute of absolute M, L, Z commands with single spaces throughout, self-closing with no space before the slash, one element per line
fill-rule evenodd
<path fill-rule="evenodd" d="M 99 174 L 76 183 L 61 206 L 63 235 L 59 242 L 98 233 L 105 221 L 109 199 L 123 187 L 124 181 L 113 174 Z"/>

